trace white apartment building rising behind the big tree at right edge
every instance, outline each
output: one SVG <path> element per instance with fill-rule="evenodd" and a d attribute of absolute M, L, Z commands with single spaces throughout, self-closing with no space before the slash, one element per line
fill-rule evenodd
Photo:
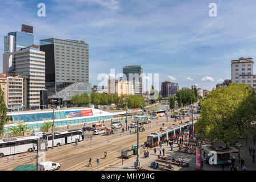
<path fill-rule="evenodd" d="M 231 81 L 245 82 L 256 90 L 256 75 L 253 75 L 253 58 L 239 58 L 231 61 Z"/>

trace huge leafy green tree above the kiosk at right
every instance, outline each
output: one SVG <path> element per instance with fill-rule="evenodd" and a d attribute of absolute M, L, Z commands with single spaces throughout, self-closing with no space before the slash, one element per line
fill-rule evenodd
<path fill-rule="evenodd" d="M 256 135 L 251 130 L 251 126 L 255 127 L 256 98 L 249 85 L 232 83 L 227 88 L 214 89 L 200 106 L 201 117 L 195 123 L 198 137 L 230 144 Z"/>

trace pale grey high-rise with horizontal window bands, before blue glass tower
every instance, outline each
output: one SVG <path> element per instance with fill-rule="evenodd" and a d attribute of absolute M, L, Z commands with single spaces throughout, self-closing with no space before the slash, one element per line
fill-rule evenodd
<path fill-rule="evenodd" d="M 21 48 L 3 54 L 3 73 L 23 79 L 23 107 L 39 109 L 40 90 L 45 90 L 45 52 L 39 46 Z"/>

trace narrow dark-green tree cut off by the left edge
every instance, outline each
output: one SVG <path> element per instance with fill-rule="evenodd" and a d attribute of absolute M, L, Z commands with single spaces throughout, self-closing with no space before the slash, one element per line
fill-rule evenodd
<path fill-rule="evenodd" d="M 5 122 L 7 117 L 7 107 L 5 105 L 3 90 L 0 87 L 0 137 L 5 133 Z"/>

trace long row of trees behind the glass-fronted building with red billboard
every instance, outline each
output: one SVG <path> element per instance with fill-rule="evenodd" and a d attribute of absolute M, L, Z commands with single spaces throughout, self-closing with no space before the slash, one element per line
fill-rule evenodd
<path fill-rule="evenodd" d="M 122 95 L 118 96 L 117 93 L 112 94 L 106 94 L 106 93 L 95 93 L 92 92 L 91 96 L 88 96 L 87 93 L 83 93 L 81 95 L 76 94 L 71 98 L 71 103 L 76 105 L 110 105 L 115 104 L 119 107 L 125 107 L 126 105 L 126 97 L 127 97 L 127 107 L 130 109 L 138 108 L 146 105 L 144 98 L 138 95 Z"/>

